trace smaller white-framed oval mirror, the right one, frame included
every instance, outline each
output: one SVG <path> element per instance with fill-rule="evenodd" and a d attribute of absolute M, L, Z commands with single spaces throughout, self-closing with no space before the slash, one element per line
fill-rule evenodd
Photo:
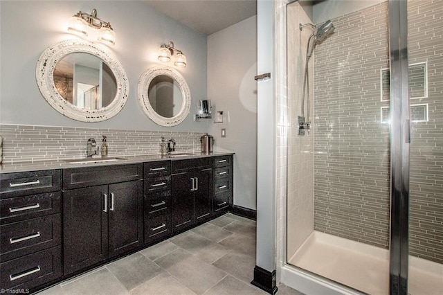
<path fill-rule="evenodd" d="M 146 116 L 161 126 L 180 124 L 190 111 L 190 90 L 185 78 L 167 66 L 156 66 L 141 75 L 137 97 Z"/>

